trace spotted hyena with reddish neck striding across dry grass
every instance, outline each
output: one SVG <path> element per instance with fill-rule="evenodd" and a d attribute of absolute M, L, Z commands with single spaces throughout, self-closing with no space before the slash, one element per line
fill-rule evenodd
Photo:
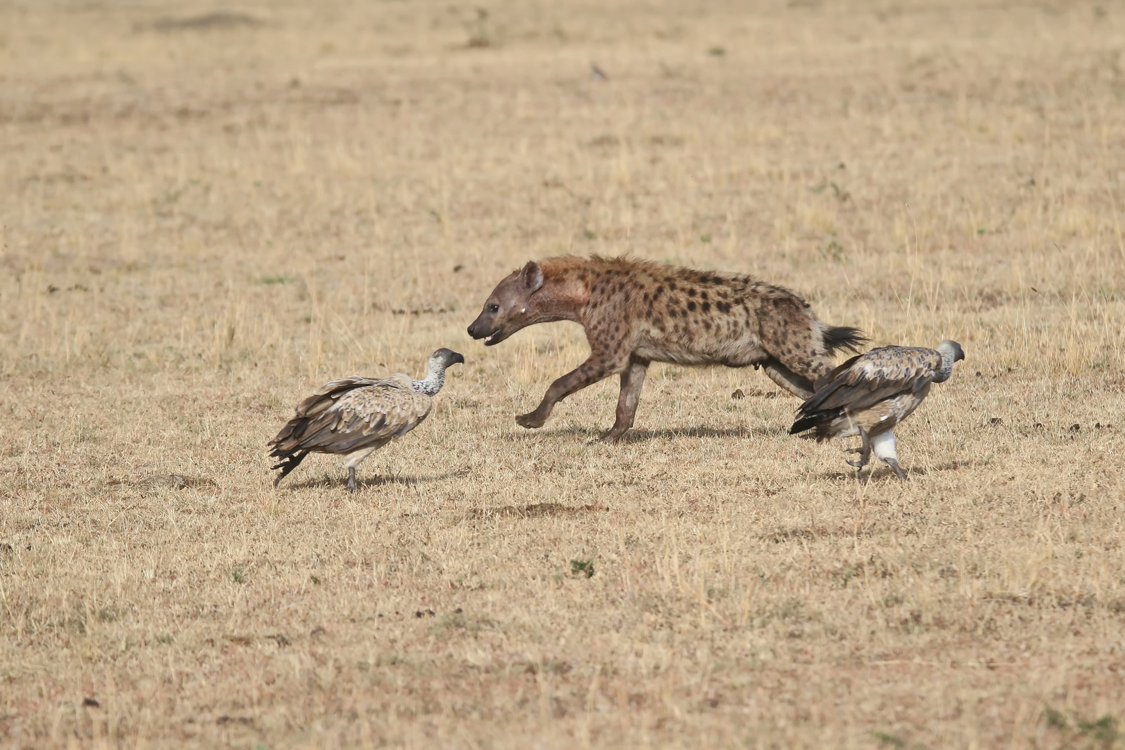
<path fill-rule="evenodd" d="M 832 369 L 835 350 L 855 350 L 866 340 L 856 328 L 825 325 L 792 291 L 748 275 L 597 256 L 529 261 L 493 290 L 469 335 L 492 346 L 554 320 L 585 328 L 590 358 L 515 421 L 542 427 L 555 404 L 620 374 L 616 419 L 602 435 L 609 441 L 632 426 L 649 362 L 753 364 L 804 399 Z"/>

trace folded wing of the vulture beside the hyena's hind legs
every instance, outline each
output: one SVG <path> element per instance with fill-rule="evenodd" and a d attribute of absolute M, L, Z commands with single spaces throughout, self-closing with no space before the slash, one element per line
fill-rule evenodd
<path fill-rule="evenodd" d="M 801 413 L 845 408 L 865 409 L 899 394 L 917 392 L 930 382 L 942 355 L 917 346 L 883 346 L 845 362 L 834 370 Z"/>

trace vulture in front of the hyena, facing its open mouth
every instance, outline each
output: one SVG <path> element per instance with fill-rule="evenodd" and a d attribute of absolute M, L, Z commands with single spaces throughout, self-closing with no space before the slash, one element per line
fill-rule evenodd
<path fill-rule="evenodd" d="M 273 486 L 309 453 L 345 457 L 348 490 L 356 491 L 356 467 L 392 440 L 402 437 L 430 414 L 432 396 L 446 383 L 446 370 L 464 363 L 454 351 L 439 349 L 430 355 L 425 380 L 396 372 L 377 380 L 353 376 L 321 386 L 297 405 L 297 416 L 269 442 L 272 469 L 281 473 Z"/>

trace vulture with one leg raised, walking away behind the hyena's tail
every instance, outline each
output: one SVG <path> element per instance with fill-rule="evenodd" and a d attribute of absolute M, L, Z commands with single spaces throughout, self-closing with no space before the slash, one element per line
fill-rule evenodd
<path fill-rule="evenodd" d="M 860 460 L 848 464 L 862 469 L 874 451 L 899 479 L 906 479 L 894 452 L 894 426 L 918 408 L 930 383 L 948 380 L 953 363 L 963 359 L 961 344 L 950 340 L 936 350 L 883 346 L 853 356 L 817 379 L 816 392 L 796 410 L 789 434 L 807 433 L 801 436 L 818 443 L 860 435 L 863 445 L 848 450 Z"/>

